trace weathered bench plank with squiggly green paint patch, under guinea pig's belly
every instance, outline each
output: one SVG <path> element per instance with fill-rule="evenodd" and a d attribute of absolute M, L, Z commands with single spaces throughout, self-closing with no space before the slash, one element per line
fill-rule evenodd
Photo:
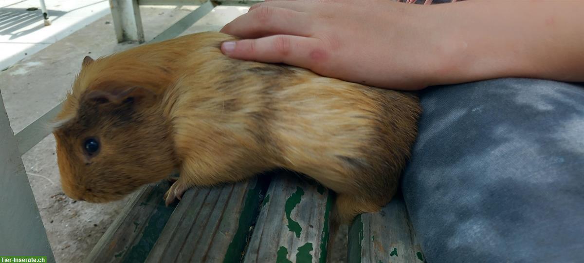
<path fill-rule="evenodd" d="M 325 262 L 332 195 L 292 172 L 279 172 L 262 204 L 244 262 Z"/>

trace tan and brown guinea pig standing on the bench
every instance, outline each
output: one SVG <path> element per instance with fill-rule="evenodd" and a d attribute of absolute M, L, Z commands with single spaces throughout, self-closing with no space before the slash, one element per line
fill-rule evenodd
<path fill-rule="evenodd" d="M 63 191 L 108 202 L 179 171 L 168 205 L 193 186 L 286 168 L 335 191 L 340 222 L 387 204 L 417 96 L 234 60 L 220 44 L 235 39 L 205 32 L 85 57 L 54 123 Z"/>

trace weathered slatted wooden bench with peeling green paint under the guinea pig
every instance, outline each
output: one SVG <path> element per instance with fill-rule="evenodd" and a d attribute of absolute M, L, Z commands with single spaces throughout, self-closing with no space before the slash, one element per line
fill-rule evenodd
<path fill-rule="evenodd" d="M 289 171 L 190 189 L 169 207 L 168 182 L 135 195 L 86 262 L 326 262 L 333 193 Z M 424 262 L 401 198 L 361 214 L 349 262 Z"/>

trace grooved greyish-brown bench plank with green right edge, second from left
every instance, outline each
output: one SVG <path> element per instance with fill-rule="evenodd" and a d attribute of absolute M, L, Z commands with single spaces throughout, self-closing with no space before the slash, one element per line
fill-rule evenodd
<path fill-rule="evenodd" d="M 146 262 L 239 262 L 267 182 L 190 189 Z"/>

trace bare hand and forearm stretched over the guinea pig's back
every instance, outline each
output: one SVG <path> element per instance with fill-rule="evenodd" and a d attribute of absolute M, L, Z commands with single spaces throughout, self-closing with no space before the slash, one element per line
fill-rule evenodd
<path fill-rule="evenodd" d="M 502 4 L 504 2 L 504 4 Z M 526 77 L 584 81 L 584 1 L 266 1 L 221 29 L 227 56 L 391 89 Z"/>

